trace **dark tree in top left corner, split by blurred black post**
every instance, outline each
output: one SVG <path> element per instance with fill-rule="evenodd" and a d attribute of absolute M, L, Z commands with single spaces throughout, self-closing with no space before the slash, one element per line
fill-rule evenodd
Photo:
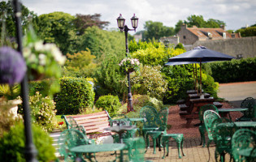
<path fill-rule="evenodd" d="M 16 36 L 16 28 L 15 28 L 15 16 L 14 9 L 12 7 L 11 1 L 0 2 L 0 31 L 6 32 L 7 36 L 15 37 Z M 23 32 L 26 28 L 28 28 L 29 23 L 33 23 L 33 28 L 37 29 L 37 15 L 33 13 L 33 11 L 29 11 L 26 6 L 21 5 L 21 25 Z M 2 25 L 6 26 L 6 31 L 2 31 Z"/>

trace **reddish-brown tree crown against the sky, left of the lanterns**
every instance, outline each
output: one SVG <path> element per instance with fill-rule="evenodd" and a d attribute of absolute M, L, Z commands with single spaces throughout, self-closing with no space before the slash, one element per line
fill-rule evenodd
<path fill-rule="evenodd" d="M 76 14 L 76 19 L 73 20 L 73 23 L 77 31 L 76 33 L 78 35 L 82 35 L 85 32 L 86 28 L 97 26 L 98 28 L 103 29 L 107 25 L 109 25 L 110 22 L 101 21 L 100 17 L 101 17 L 100 14 L 94 14 L 94 15 Z"/>

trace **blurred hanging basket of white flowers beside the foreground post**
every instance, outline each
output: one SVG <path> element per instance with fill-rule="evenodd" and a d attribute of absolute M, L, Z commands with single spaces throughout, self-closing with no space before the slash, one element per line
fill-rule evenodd
<path fill-rule="evenodd" d="M 24 37 L 23 54 L 28 66 L 28 79 L 37 79 L 37 75 L 44 75 L 46 78 L 60 78 L 60 66 L 64 65 L 66 57 L 55 44 L 43 44 L 32 28 Z"/>

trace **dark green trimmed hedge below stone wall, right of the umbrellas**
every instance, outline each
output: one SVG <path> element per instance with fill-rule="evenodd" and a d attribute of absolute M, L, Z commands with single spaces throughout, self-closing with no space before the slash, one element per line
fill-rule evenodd
<path fill-rule="evenodd" d="M 256 58 L 209 63 L 212 77 L 219 83 L 256 80 Z"/>

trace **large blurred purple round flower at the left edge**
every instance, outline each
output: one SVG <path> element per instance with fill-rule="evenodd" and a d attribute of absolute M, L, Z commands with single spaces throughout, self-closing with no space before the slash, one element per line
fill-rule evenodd
<path fill-rule="evenodd" d="M 19 52 L 7 46 L 0 48 L 0 83 L 20 83 L 26 70 L 26 62 Z"/>

